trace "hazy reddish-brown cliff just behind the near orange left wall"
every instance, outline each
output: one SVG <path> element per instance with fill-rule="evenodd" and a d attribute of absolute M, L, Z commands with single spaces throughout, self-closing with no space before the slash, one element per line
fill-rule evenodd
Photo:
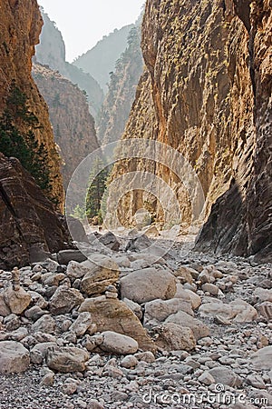
<path fill-rule="evenodd" d="M 86 96 L 77 85 L 43 65 L 34 65 L 33 76 L 49 107 L 53 134 L 63 159 L 61 169 L 66 188 L 77 165 L 98 148 L 94 120 Z"/>

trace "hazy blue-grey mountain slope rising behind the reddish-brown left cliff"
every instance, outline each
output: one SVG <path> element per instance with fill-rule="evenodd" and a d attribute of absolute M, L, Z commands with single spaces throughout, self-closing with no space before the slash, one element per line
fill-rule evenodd
<path fill-rule="evenodd" d="M 48 65 L 53 70 L 59 71 L 64 77 L 88 95 L 90 111 L 95 117 L 100 110 L 103 101 L 103 92 L 92 75 L 83 73 L 76 65 L 65 61 L 65 45 L 63 36 L 49 16 L 44 13 L 41 7 L 44 26 L 40 36 L 40 44 L 36 45 L 36 55 L 34 60 L 42 65 Z"/>

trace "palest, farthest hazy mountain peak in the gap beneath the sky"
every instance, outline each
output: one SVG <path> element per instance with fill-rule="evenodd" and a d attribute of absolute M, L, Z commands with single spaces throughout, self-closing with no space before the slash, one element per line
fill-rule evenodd
<path fill-rule="evenodd" d="M 104 92 L 107 92 L 110 73 L 114 71 L 115 62 L 125 51 L 128 35 L 134 26 L 125 25 L 120 30 L 115 29 L 110 35 L 104 35 L 97 45 L 73 62 L 73 65 L 92 75 Z"/>

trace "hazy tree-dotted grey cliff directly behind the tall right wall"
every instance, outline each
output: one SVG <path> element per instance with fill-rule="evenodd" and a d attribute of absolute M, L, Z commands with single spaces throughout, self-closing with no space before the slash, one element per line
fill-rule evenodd
<path fill-rule="evenodd" d="M 97 118 L 97 135 L 102 144 L 118 141 L 131 112 L 143 68 L 141 26 L 131 28 L 128 46 L 117 60 L 108 93 Z"/>

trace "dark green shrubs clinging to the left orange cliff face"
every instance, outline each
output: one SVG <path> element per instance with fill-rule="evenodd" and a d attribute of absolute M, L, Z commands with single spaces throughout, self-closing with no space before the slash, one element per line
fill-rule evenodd
<path fill-rule="evenodd" d="M 28 128 L 27 132 L 18 129 L 18 125 Z M 13 82 L 6 99 L 5 112 L 0 118 L 0 152 L 8 157 L 16 157 L 49 196 L 52 191 L 48 152 L 44 144 L 39 144 L 34 131 L 40 124 L 29 110 L 27 97 Z M 51 195 L 51 200 L 56 199 Z"/>

